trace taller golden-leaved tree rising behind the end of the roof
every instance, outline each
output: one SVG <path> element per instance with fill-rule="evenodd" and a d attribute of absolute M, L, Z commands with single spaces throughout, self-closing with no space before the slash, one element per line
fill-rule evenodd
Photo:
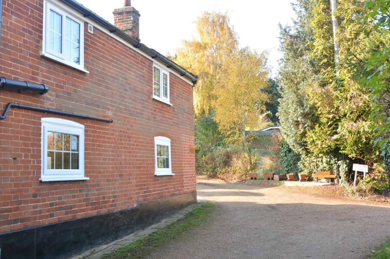
<path fill-rule="evenodd" d="M 227 13 L 203 12 L 196 20 L 197 37 L 183 40 L 174 61 L 199 76 L 194 87 L 195 115 L 215 108 L 214 88 L 220 84 L 225 62 L 238 46 Z"/>

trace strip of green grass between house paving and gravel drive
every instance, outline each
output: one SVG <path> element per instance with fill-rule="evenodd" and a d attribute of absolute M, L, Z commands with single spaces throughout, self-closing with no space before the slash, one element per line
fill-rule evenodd
<path fill-rule="evenodd" d="M 111 254 L 105 255 L 102 258 L 112 259 L 133 259 L 144 258 L 151 254 L 155 247 L 163 245 L 172 238 L 177 238 L 184 231 L 195 228 L 206 221 L 208 214 L 215 205 L 213 203 L 202 203 L 199 207 L 193 209 L 182 219 L 169 224 L 168 226 L 159 229 L 145 238 L 140 238 L 137 241 L 126 245 Z"/>

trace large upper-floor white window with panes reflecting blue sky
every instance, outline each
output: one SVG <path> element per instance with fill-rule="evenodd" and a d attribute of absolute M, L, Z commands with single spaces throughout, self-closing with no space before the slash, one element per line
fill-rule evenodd
<path fill-rule="evenodd" d="M 84 69 L 84 22 L 66 10 L 44 2 L 42 56 Z"/>

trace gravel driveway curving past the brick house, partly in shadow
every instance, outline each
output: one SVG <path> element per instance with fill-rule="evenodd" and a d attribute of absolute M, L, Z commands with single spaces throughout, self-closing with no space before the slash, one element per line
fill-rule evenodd
<path fill-rule="evenodd" d="M 390 206 L 289 187 L 199 180 L 207 222 L 150 258 L 365 258 L 390 235 Z"/>

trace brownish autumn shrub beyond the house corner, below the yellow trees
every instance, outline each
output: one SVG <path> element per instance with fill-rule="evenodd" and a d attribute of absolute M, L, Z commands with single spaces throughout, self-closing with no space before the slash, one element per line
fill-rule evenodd
<path fill-rule="evenodd" d="M 240 145 L 217 146 L 199 160 L 197 173 L 228 181 L 240 181 L 254 172 L 256 157 Z"/>

